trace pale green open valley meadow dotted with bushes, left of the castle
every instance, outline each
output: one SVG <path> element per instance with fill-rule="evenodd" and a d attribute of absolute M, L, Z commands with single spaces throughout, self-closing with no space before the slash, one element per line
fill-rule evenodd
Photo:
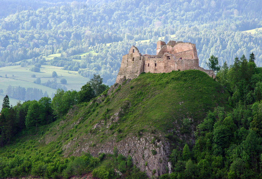
<path fill-rule="evenodd" d="M 81 53 L 79 55 L 85 56 L 88 53 L 95 53 L 95 52 L 88 51 L 85 53 Z M 20 65 L 1 67 L 0 89 L 3 90 L 3 93 L 0 95 L 0 104 L 1 104 L 0 108 L 2 107 L 2 100 L 6 95 L 6 89 L 9 85 L 15 87 L 21 86 L 21 87 L 25 87 L 26 89 L 28 87 L 42 89 L 43 93 L 47 91 L 47 94 L 51 96 L 52 93 L 56 92 L 56 89 L 46 87 L 41 84 L 47 82 L 48 80 L 50 81 L 54 80 L 54 78 L 52 78 L 53 71 L 55 71 L 58 75 L 56 78 L 57 84 L 61 84 L 60 80 L 64 78 L 67 80 L 67 84 L 61 84 L 62 86 L 65 85 L 65 87 L 67 87 L 68 90 L 71 89 L 77 91 L 80 90 L 80 88 L 84 84 L 86 84 L 89 79 L 79 75 L 77 71 L 63 70 L 62 67 L 51 66 L 49 64 L 49 61 L 52 60 L 54 57 L 58 57 L 58 56 L 60 56 L 60 54 L 53 54 L 53 55 L 49 55 L 48 57 L 45 57 L 47 60 L 47 64 L 42 65 L 40 67 L 40 72 L 30 71 L 30 68 L 34 67 L 34 65 L 29 65 L 26 67 L 21 67 Z M 28 59 L 28 61 L 31 61 L 31 59 Z M 32 75 L 35 75 L 35 78 L 33 78 Z M 36 78 L 41 79 L 41 84 L 34 83 Z M 12 105 L 15 105 L 17 101 L 18 100 L 16 99 L 10 98 L 10 104 Z"/>

